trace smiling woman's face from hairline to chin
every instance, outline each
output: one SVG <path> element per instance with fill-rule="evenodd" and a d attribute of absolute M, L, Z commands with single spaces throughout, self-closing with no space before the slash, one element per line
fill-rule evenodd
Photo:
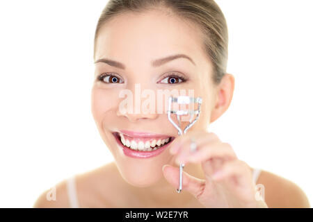
<path fill-rule="evenodd" d="M 161 169 L 164 164 L 175 164 L 169 148 L 172 139 L 177 137 L 177 129 L 168 121 L 164 112 L 168 101 L 163 99 L 161 102 L 157 98 L 158 90 L 164 92 L 166 89 L 177 89 L 182 92 L 181 89 L 186 89 L 189 95 L 188 89 L 191 89 L 193 96 L 201 96 L 200 119 L 190 130 L 207 129 L 216 91 L 211 82 L 212 65 L 201 49 L 201 43 L 202 37 L 197 26 L 160 11 L 124 13 L 102 26 L 95 45 L 95 61 L 102 62 L 95 63 L 92 112 L 102 139 L 113 154 L 122 177 L 129 184 L 148 187 L 163 177 Z M 152 62 L 177 54 L 184 54 L 193 62 L 187 58 Z M 104 62 L 104 59 L 120 62 L 122 66 L 115 67 L 115 62 Z M 102 74 L 109 76 L 97 79 Z M 155 112 L 130 113 L 127 108 L 120 106 L 126 97 L 119 95 L 128 89 L 133 95 L 132 108 L 136 110 L 140 105 L 143 107 L 148 97 L 138 94 L 136 85 L 141 92 L 150 89 L 150 96 L 155 96 Z M 138 103 L 140 99 L 141 104 Z M 157 112 L 160 104 L 164 107 L 162 113 Z M 188 122 L 183 122 L 182 128 L 187 124 Z M 136 134 L 138 132 L 143 134 Z M 166 138 L 170 138 L 170 141 L 159 155 L 131 157 L 125 155 L 125 151 L 130 148 L 123 147 L 119 142 L 120 135 L 115 133 L 121 133 L 125 143 L 127 139 L 130 144 L 134 140 L 131 145 L 137 148 L 151 147 L 159 139 L 166 142 Z"/>

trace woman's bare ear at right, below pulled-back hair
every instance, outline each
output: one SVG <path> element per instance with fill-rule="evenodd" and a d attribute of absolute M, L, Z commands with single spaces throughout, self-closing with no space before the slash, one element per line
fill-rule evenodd
<path fill-rule="evenodd" d="M 216 87 L 216 101 L 211 112 L 211 123 L 216 121 L 230 106 L 234 94 L 234 76 L 225 74 Z"/>

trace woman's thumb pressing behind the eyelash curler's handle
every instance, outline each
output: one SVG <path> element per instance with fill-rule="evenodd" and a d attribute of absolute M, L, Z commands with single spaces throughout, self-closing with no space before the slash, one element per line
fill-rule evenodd
<path fill-rule="evenodd" d="M 179 168 L 165 164 L 162 167 L 163 176 L 168 180 L 170 185 L 177 189 L 179 187 Z M 205 180 L 195 178 L 186 172 L 182 172 L 182 190 L 186 190 L 193 194 L 195 198 L 199 198 L 205 187 Z"/>

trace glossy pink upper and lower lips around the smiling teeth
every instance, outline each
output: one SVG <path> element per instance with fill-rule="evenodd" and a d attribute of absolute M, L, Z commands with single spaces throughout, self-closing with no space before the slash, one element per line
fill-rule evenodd
<path fill-rule="evenodd" d="M 122 133 L 122 131 L 125 132 L 125 130 L 121 130 L 120 132 Z M 128 131 L 128 132 L 130 132 L 130 131 Z M 151 136 L 153 136 L 153 137 L 156 136 L 156 134 L 150 134 L 150 133 L 148 133 L 148 134 L 144 133 L 144 134 L 141 134 L 141 135 L 143 135 L 145 137 L 147 135 L 150 135 L 150 137 Z M 155 151 L 134 151 L 131 148 L 129 148 L 127 146 L 124 146 L 122 144 L 122 142 L 120 142 L 120 136 L 118 135 L 117 132 L 113 133 L 113 136 L 115 137 L 115 140 L 118 143 L 118 146 L 120 146 L 120 148 L 122 148 L 122 151 L 124 152 L 124 154 L 127 155 L 128 157 L 133 157 L 133 158 L 151 158 L 151 157 L 155 157 L 157 155 L 160 155 L 166 149 L 166 147 L 168 147 L 168 145 L 171 144 L 172 141 L 174 140 L 173 137 L 170 137 L 170 142 L 168 142 L 168 144 L 162 146 L 161 148 L 158 148 Z M 129 135 L 129 136 L 131 136 L 131 135 Z M 132 134 L 132 136 L 134 137 L 134 134 Z M 138 134 L 136 134 L 136 136 L 138 136 Z M 164 135 L 159 135 L 159 136 L 162 137 Z"/>

